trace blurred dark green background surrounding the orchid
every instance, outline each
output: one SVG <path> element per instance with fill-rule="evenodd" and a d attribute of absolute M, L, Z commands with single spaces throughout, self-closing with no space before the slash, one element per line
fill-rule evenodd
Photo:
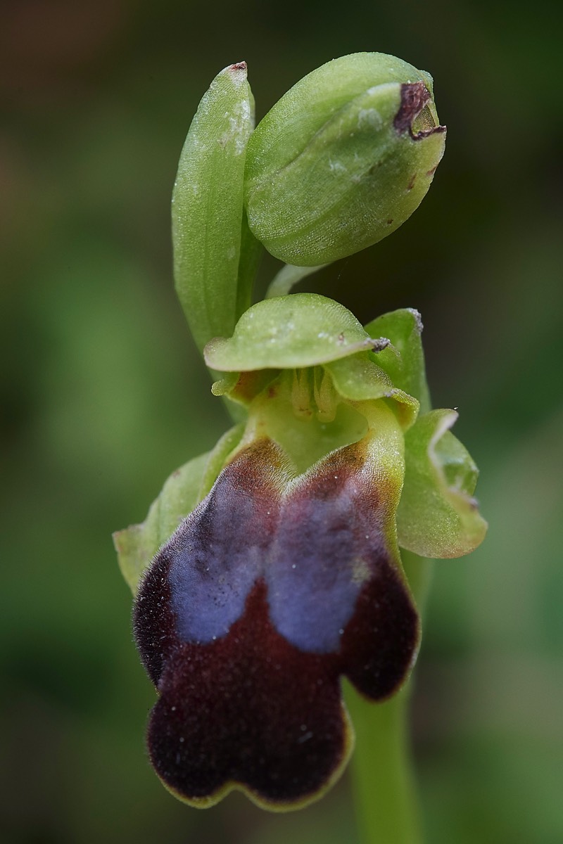
<path fill-rule="evenodd" d="M 474 555 L 436 565 L 413 711 L 427 841 L 563 841 L 559 9 L 3 3 L 2 844 L 356 844 L 346 777 L 279 816 L 240 795 L 198 812 L 160 786 L 111 531 L 227 424 L 171 282 L 198 100 L 246 59 L 262 116 L 359 50 L 434 75 L 447 154 L 403 228 L 302 287 L 365 321 L 420 309 L 490 521 Z"/>

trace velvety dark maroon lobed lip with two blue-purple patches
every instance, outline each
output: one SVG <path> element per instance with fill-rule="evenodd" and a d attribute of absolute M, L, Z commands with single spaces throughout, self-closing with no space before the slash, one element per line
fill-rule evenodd
<path fill-rule="evenodd" d="M 160 692 L 149 753 L 190 803 L 231 787 L 307 802 L 349 753 L 340 676 L 377 701 L 408 674 L 419 622 L 396 481 L 366 440 L 298 477 L 273 441 L 245 446 L 143 578 L 135 636 Z"/>

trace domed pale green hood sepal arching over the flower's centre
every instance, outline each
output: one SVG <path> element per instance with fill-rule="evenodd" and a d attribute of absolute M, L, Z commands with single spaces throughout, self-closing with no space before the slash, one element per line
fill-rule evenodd
<path fill-rule="evenodd" d="M 233 336 L 212 340 L 204 356 L 208 366 L 224 372 L 295 369 L 376 345 L 344 306 L 325 296 L 298 293 L 252 306 Z"/>

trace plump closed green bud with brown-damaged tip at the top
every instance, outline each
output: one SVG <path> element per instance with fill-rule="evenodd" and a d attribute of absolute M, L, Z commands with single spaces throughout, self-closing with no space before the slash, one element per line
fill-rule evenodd
<path fill-rule="evenodd" d="M 419 206 L 445 133 L 430 74 L 383 53 L 322 65 L 273 106 L 249 140 L 252 233 L 297 266 L 360 252 Z"/>

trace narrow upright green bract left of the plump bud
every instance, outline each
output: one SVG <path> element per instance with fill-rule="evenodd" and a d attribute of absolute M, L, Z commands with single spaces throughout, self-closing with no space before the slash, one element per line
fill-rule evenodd
<path fill-rule="evenodd" d="M 200 350 L 230 335 L 250 304 L 262 248 L 243 217 L 253 106 L 245 62 L 225 68 L 203 96 L 181 151 L 172 195 L 174 277 Z"/>

